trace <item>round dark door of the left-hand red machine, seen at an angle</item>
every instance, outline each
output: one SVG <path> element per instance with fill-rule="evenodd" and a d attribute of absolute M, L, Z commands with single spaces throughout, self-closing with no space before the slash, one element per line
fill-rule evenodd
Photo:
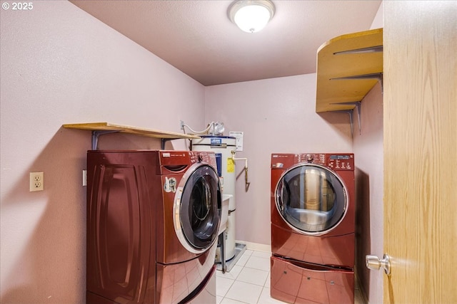
<path fill-rule="evenodd" d="M 209 164 L 193 164 L 184 174 L 174 199 L 174 228 L 192 253 L 206 251 L 216 241 L 221 212 L 219 177 Z"/>

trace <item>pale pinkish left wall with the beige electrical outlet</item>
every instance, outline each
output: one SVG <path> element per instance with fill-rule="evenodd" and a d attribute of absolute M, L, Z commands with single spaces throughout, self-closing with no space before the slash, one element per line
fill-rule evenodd
<path fill-rule="evenodd" d="M 0 302 L 84 303 L 81 171 L 91 133 L 61 125 L 180 132 L 182 119 L 204 127 L 204 87 L 68 1 L 0 11 Z M 160 141 L 106 135 L 100 147 L 159 148 Z M 29 192 L 34 171 L 44 172 L 43 192 Z"/>

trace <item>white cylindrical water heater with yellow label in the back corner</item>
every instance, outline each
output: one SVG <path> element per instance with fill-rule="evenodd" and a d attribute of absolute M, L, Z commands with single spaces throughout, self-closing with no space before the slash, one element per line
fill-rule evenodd
<path fill-rule="evenodd" d="M 225 258 L 229 261 L 235 256 L 235 210 L 236 195 L 235 182 L 236 171 L 233 160 L 236 151 L 236 138 L 229 136 L 201 135 L 201 139 L 192 140 L 193 151 L 211 151 L 216 153 L 218 162 L 218 174 L 221 179 L 223 194 L 230 194 L 229 217 L 227 219 Z"/>

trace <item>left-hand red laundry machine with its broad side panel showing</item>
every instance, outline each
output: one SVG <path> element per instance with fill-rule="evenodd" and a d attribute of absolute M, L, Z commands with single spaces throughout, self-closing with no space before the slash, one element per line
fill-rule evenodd
<path fill-rule="evenodd" d="M 216 303 L 213 152 L 89 151 L 87 303 Z"/>

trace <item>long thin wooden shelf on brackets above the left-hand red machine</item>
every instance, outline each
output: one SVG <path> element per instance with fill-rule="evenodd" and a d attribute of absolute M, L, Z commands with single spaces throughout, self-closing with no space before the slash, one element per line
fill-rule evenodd
<path fill-rule="evenodd" d="M 79 130 L 92 131 L 92 150 L 97 149 L 99 135 L 108 133 L 121 132 L 129 133 L 134 135 L 141 135 L 146 137 L 160 138 L 162 140 L 162 149 L 164 149 L 166 140 L 178 140 L 178 139 L 199 139 L 196 135 L 187 135 L 177 132 L 167 132 L 161 130 L 145 129 L 142 127 L 131 127 L 128 125 L 116 125 L 109 122 L 86 122 L 76 124 L 66 124 L 63 127 Z"/>

